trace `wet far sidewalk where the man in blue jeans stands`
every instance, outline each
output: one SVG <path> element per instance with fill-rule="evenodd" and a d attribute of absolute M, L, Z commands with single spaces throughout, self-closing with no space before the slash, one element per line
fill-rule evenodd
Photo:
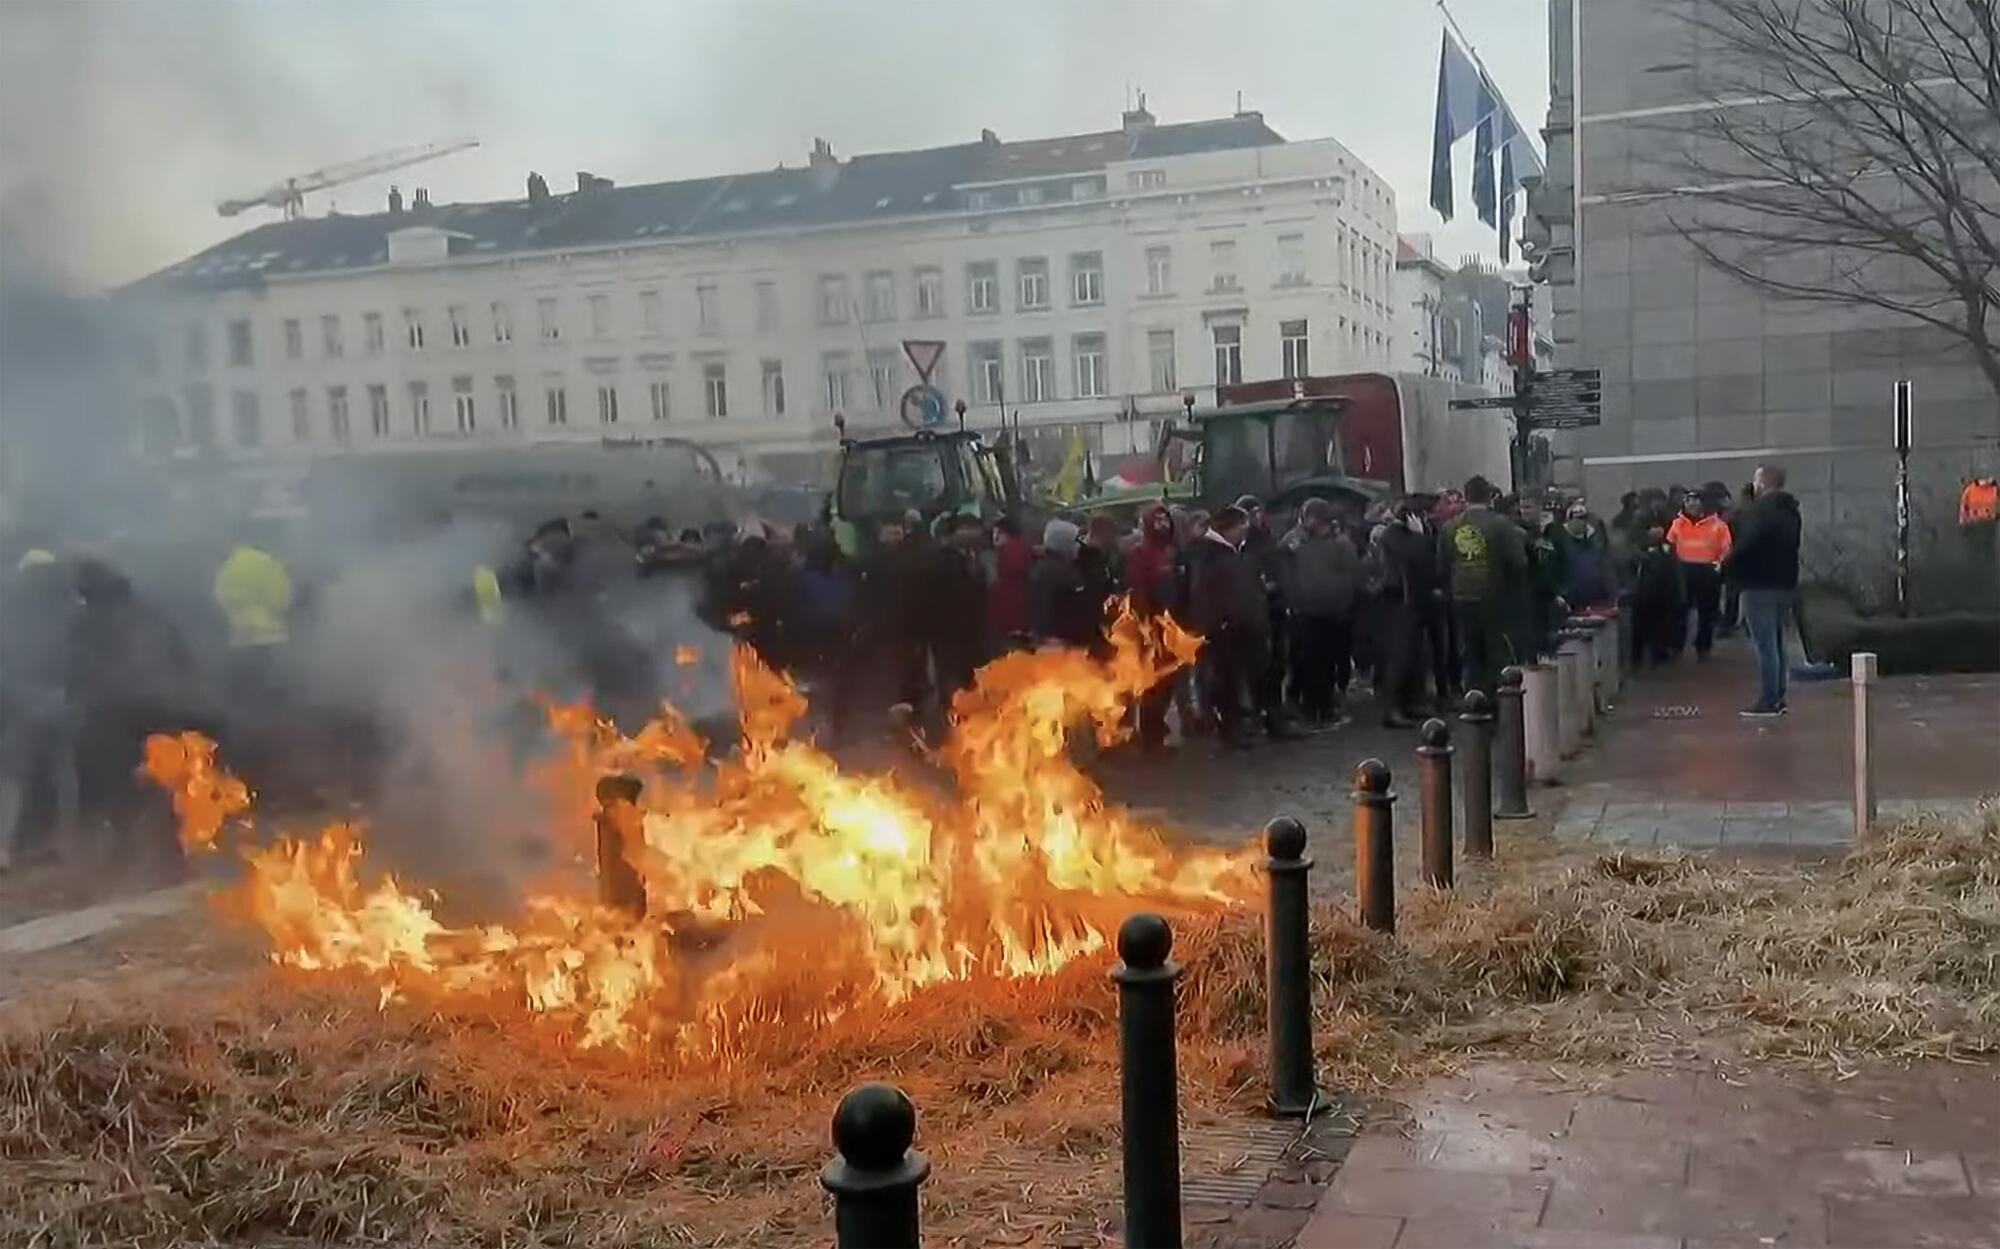
<path fill-rule="evenodd" d="M 1756 667 L 1742 641 L 1628 679 L 1624 701 L 1564 773 L 1556 835 L 1686 849 L 1838 849 L 1854 833 L 1852 687 L 1792 683 L 1790 715 L 1746 721 Z M 2000 677 L 1884 677 L 1876 687 L 1878 813 L 1964 811 L 2000 791 Z M 1560 795 L 1560 797 L 1558 797 Z"/>

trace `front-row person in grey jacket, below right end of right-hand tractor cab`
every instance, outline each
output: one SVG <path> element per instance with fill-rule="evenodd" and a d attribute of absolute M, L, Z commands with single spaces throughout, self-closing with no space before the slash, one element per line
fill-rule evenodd
<path fill-rule="evenodd" d="M 1306 721 L 1330 727 L 1352 679 L 1362 560 L 1354 542 L 1334 526 L 1334 508 L 1324 498 L 1306 500 L 1282 550 L 1292 689 Z"/>

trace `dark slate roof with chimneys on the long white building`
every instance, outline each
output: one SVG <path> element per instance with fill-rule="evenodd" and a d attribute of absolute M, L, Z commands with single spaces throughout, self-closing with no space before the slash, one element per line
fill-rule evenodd
<path fill-rule="evenodd" d="M 1120 130 L 1002 142 L 990 130 L 976 142 L 912 152 L 876 152 L 834 162 L 816 144 L 810 164 L 756 174 L 682 182 L 610 186 L 492 200 L 414 206 L 366 216 L 276 220 L 142 278 L 140 290 L 226 290 L 272 276 L 370 268 L 388 262 L 388 236 L 412 226 L 446 232 L 452 256 L 502 256 L 618 242 L 706 238 L 774 228 L 818 228 L 924 214 L 1000 208 L 996 184 L 1072 180 L 1126 160 L 1154 160 L 1282 144 L 1262 114 L 1240 112 L 1200 122 L 1154 124 L 1144 110 Z M 578 182 L 588 176 L 578 174 Z M 974 200 L 972 196 L 984 196 Z M 1070 192 L 1046 200 L 1068 200 Z"/>

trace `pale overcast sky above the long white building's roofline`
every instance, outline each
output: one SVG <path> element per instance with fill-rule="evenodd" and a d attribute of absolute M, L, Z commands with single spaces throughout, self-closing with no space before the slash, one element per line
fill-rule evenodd
<path fill-rule="evenodd" d="M 1544 0 L 1454 0 L 1516 116 L 1548 108 Z M 1428 198 L 1442 18 L 1424 0 L 0 0 L 0 230 L 76 282 L 134 278 L 262 216 L 214 202 L 368 152 L 470 134 L 394 176 L 432 200 L 652 182 L 1262 110 L 1332 136 L 1400 226 L 1492 256 Z M 374 212 L 390 178 L 308 200 Z"/>

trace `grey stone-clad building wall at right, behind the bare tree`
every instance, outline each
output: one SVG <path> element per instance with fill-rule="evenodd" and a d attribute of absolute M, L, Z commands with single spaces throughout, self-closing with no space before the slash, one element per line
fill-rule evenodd
<path fill-rule="evenodd" d="M 1530 212 L 1552 232 L 1558 364 L 1604 372 L 1604 424 L 1564 438 L 1606 506 L 1626 488 L 1736 486 L 1756 462 L 1782 462 L 1808 554 L 1878 564 L 1892 550 L 1894 382 L 1916 388 L 1920 538 L 1950 528 L 1974 466 L 1990 470 L 2000 404 L 1948 334 L 1882 308 L 1786 300 L 1702 262 L 1676 222 L 1698 224 L 1712 190 L 1676 154 L 1716 110 L 1772 96 L 1720 96 L 1714 52 L 1684 12 L 1550 2 L 1548 182 Z M 1842 256 L 1786 262 L 1824 272 Z"/>

